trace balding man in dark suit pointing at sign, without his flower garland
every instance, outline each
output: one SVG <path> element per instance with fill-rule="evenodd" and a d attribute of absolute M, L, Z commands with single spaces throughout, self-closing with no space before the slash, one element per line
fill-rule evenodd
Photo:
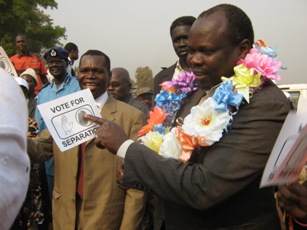
<path fill-rule="evenodd" d="M 252 23 L 236 6 L 217 5 L 198 17 L 189 34 L 188 63 L 208 91 L 203 100 L 212 96 L 221 76 L 233 76 L 253 41 Z M 186 163 L 128 140 L 111 121 L 85 118 L 101 125 L 96 144 L 125 158 L 119 173 L 124 186 L 150 189 L 165 201 L 166 229 L 279 230 L 274 188 L 259 185 L 288 111 L 284 94 L 267 80 L 241 104 L 228 132 L 194 151 Z"/>

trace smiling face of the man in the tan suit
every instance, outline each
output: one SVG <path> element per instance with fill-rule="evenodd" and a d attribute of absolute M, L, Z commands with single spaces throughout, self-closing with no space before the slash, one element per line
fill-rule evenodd
<path fill-rule="evenodd" d="M 81 89 L 90 89 L 97 98 L 107 90 L 110 71 L 104 56 L 85 55 L 80 60 L 78 80 Z"/>

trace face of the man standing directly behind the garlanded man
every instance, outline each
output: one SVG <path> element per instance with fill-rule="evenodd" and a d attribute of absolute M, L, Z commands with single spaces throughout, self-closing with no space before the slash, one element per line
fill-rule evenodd
<path fill-rule="evenodd" d="M 190 28 L 190 26 L 186 25 L 176 26 L 171 32 L 174 50 L 180 59 L 186 58 L 189 52 L 187 42 Z"/>

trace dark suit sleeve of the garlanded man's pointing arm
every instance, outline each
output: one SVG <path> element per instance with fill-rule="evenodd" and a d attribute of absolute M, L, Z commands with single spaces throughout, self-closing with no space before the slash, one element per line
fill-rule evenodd
<path fill-rule="evenodd" d="M 143 145 L 131 144 L 124 185 L 150 188 L 164 200 L 199 210 L 238 193 L 261 176 L 289 111 L 280 94 L 255 94 L 253 99 L 240 107 L 231 130 L 219 142 L 202 149 L 203 158 L 197 163 L 166 159 Z"/>

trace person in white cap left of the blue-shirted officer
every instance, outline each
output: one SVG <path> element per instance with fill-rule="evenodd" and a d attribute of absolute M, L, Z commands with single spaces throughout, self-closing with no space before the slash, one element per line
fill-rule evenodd
<path fill-rule="evenodd" d="M 28 115 L 30 118 L 34 118 L 36 110 L 35 87 L 37 86 L 37 76 L 35 74 L 34 69 L 28 68 L 20 75 L 20 77 L 28 83 L 29 90 L 26 96 L 28 99 Z"/>

